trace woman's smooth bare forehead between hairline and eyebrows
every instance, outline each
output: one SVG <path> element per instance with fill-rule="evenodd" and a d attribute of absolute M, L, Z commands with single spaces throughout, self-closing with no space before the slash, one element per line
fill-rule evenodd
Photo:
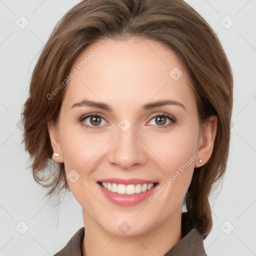
<path fill-rule="evenodd" d="M 64 100 L 134 102 L 157 99 L 194 104 L 191 82 L 182 61 L 159 42 L 108 38 L 90 44 L 74 60 L 77 73 L 65 88 Z"/>

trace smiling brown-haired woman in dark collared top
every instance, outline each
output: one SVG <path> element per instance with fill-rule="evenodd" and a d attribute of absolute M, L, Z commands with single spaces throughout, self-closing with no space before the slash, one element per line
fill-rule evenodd
<path fill-rule="evenodd" d="M 231 111 L 229 62 L 184 1 L 71 8 L 22 113 L 35 181 L 82 207 L 84 226 L 55 255 L 206 255 Z"/>

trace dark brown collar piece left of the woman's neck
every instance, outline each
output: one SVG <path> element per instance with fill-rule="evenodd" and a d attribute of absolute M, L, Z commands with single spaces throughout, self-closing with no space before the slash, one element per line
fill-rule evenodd
<path fill-rule="evenodd" d="M 81 243 L 84 237 L 84 226 L 79 228 L 67 244 L 53 256 L 82 256 Z"/>

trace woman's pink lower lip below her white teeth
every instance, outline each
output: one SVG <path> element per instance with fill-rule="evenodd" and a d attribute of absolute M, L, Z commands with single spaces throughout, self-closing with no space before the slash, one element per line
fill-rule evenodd
<path fill-rule="evenodd" d="M 108 200 L 122 206 L 131 206 L 131 205 L 135 205 L 142 202 L 153 193 L 153 191 L 155 190 L 155 187 L 158 185 L 158 184 L 155 184 L 151 189 L 141 193 L 118 194 L 118 193 L 109 191 L 108 189 L 101 186 L 99 183 L 97 184 L 99 185 L 101 191 L 104 193 L 104 195 Z"/>

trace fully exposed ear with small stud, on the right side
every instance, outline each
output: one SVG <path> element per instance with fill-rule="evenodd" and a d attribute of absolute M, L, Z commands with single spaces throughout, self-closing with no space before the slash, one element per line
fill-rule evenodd
<path fill-rule="evenodd" d="M 216 131 L 217 116 L 211 115 L 208 121 L 203 124 L 198 140 L 198 151 L 201 152 L 199 158 L 202 159 L 202 163 L 196 161 L 194 167 L 200 167 L 209 160 L 213 149 Z"/>

